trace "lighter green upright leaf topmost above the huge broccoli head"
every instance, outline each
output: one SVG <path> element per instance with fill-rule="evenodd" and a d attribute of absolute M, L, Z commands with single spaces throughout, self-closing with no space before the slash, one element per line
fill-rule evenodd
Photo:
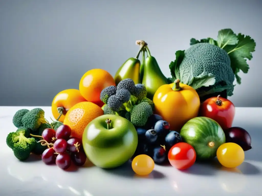
<path fill-rule="evenodd" d="M 230 28 L 222 29 L 218 32 L 217 43 L 220 48 L 224 48 L 226 45 L 237 44 L 237 35 Z"/>

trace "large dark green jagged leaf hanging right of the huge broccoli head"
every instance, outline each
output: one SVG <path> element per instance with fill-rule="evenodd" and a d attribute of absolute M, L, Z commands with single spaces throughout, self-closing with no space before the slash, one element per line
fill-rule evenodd
<path fill-rule="evenodd" d="M 238 43 L 235 45 L 227 45 L 224 50 L 231 60 L 231 68 L 236 76 L 237 83 L 241 84 L 241 78 L 238 76 L 238 72 L 241 70 L 243 73 L 248 73 L 249 66 L 247 59 L 252 59 L 252 52 L 255 51 L 256 43 L 250 36 L 244 36 L 239 33 L 237 35 Z"/>

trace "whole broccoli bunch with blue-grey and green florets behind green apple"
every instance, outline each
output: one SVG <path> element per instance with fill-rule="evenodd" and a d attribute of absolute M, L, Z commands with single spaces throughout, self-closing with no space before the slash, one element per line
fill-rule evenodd
<path fill-rule="evenodd" d="M 119 115 L 135 126 L 143 126 L 154 109 L 153 101 L 146 98 L 146 95 L 144 84 L 135 85 L 134 81 L 128 78 L 120 81 L 117 87 L 105 88 L 100 99 L 105 103 L 104 114 Z"/>

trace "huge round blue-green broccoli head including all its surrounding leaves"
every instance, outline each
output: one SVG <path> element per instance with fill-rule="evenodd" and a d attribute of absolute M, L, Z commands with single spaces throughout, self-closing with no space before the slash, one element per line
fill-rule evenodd
<path fill-rule="evenodd" d="M 218 94 L 225 98 L 232 96 L 235 77 L 241 84 L 238 72 L 249 70 L 246 59 L 252 59 L 254 40 L 231 29 L 222 29 L 217 40 L 192 38 L 190 45 L 189 49 L 176 52 L 176 60 L 169 65 L 172 75 L 169 82 L 179 79 L 192 86 L 201 100 Z"/>

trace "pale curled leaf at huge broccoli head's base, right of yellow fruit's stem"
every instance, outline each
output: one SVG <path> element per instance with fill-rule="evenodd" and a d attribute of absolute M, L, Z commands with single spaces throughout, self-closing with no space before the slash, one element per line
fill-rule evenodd
<path fill-rule="evenodd" d="M 200 87 L 209 87 L 216 82 L 215 76 L 211 73 L 202 73 L 199 76 L 192 77 L 188 85 L 192 88 L 199 89 Z"/>

